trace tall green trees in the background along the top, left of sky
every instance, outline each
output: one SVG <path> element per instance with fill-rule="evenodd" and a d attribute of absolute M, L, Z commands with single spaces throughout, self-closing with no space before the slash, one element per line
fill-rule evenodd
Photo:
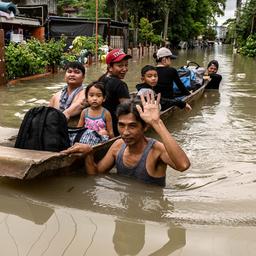
<path fill-rule="evenodd" d="M 160 44 L 169 41 L 177 46 L 180 41 L 190 41 L 209 35 L 216 15 L 223 15 L 226 0 L 99 0 L 99 18 L 127 21 L 131 41 Z M 58 0 L 59 15 L 65 8 L 76 10 L 77 16 L 95 20 L 95 0 Z"/>

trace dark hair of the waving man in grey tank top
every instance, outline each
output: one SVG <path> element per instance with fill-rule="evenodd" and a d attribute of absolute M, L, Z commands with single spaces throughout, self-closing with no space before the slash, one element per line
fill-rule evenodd
<path fill-rule="evenodd" d="M 133 114 L 135 116 L 135 119 L 140 122 L 142 124 L 142 127 L 146 127 L 146 122 L 140 117 L 140 114 L 136 108 L 136 105 L 139 105 L 141 106 L 141 108 L 143 109 L 142 107 L 142 104 L 141 104 L 141 101 L 138 100 L 138 99 L 132 99 L 132 100 L 127 100 L 125 101 L 124 103 L 121 103 L 117 106 L 117 109 L 116 109 L 116 116 L 117 116 L 117 119 L 119 118 L 119 116 L 121 115 L 128 115 L 128 114 Z"/>

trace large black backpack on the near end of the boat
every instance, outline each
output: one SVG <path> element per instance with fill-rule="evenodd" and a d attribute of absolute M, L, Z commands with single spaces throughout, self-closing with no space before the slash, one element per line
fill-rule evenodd
<path fill-rule="evenodd" d="M 67 119 L 61 111 L 41 106 L 26 113 L 15 148 L 59 152 L 69 146 Z"/>

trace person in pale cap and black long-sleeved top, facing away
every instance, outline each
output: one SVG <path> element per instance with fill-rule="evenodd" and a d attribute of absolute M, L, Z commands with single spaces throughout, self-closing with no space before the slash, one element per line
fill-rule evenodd
<path fill-rule="evenodd" d="M 189 95 L 190 92 L 181 82 L 177 70 L 171 67 L 171 60 L 176 59 L 177 56 L 173 55 L 170 49 L 162 47 L 153 57 L 156 59 L 158 74 L 158 82 L 154 87 L 154 91 L 161 93 L 161 106 L 162 110 L 165 110 L 171 106 L 169 99 L 174 98 L 173 82 L 177 84 L 182 95 Z M 185 107 L 186 104 L 184 102 L 181 108 Z"/>

